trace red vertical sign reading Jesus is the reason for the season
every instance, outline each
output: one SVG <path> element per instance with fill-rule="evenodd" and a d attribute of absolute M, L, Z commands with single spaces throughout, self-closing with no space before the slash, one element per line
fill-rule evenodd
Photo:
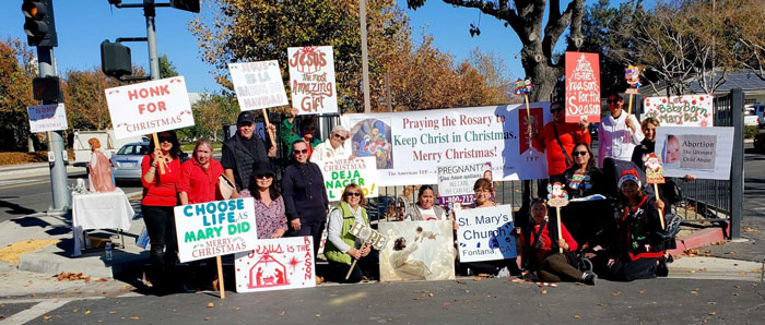
<path fill-rule="evenodd" d="M 566 52 L 566 122 L 600 122 L 598 53 Z"/>

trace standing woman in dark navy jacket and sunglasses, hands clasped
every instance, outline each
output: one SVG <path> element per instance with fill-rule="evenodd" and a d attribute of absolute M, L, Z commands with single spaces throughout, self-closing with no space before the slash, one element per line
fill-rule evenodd
<path fill-rule="evenodd" d="M 318 165 L 308 161 L 308 144 L 304 140 L 292 144 L 293 160 L 282 176 L 282 194 L 290 220 L 289 236 L 313 237 L 316 256 L 327 221 L 329 198 L 321 170 Z"/>

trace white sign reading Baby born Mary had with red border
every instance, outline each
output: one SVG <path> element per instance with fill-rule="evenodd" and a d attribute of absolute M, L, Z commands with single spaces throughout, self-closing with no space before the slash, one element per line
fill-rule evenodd
<path fill-rule="evenodd" d="M 714 127 L 713 95 L 648 97 L 643 119 L 655 118 L 662 127 Z"/>

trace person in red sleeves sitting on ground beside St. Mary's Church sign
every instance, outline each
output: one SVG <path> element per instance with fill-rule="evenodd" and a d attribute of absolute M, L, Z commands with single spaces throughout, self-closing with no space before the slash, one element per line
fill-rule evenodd
<path fill-rule="evenodd" d="M 550 224 L 555 221 L 548 218 L 548 205 L 534 200 L 531 203 L 531 226 L 521 228 L 520 234 L 523 268 L 548 282 L 581 281 L 595 285 L 595 273 L 582 273 L 575 266 L 578 265 L 577 244 L 566 227 L 561 224 L 563 239 L 554 241 L 557 230 Z M 560 253 L 561 248 L 563 253 Z"/>

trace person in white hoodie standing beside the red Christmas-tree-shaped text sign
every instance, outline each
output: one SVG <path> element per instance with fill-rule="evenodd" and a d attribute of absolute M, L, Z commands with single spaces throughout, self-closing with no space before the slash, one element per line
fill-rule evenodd
<path fill-rule="evenodd" d="M 629 161 L 632 152 L 640 144 L 643 131 L 635 116 L 624 112 L 624 98 L 619 94 L 609 95 L 605 101 L 610 115 L 598 125 L 598 167 L 603 168 L 603 159 Z"/>

